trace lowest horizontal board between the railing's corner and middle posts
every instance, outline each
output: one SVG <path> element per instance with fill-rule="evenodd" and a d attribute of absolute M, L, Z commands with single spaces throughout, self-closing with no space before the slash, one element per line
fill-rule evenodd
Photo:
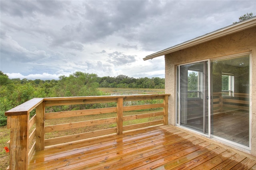
<path fill-rule="evenodd" d="M 64 136 L 64 137 L 56 137 L 56 138 L 52 138 L 52 139 L 46 139 L 44 141 L 44 144 L 45 144 L 45 146 L 57 145 L 57 144 L 61 144 L 61 143 L 73 142 L 73 141 L 88 139 L 88 138 L 92 138 L 92 137 L 109 135 L 112 133 L 116 133 L 116 127 L 110 128 L 110 129 L 102 129 L 102 130 L 98 130 L 98 131 L 86 132 L 86 133 L 79 133 L 79 134 L 69 135 L 69 136 Z"/>

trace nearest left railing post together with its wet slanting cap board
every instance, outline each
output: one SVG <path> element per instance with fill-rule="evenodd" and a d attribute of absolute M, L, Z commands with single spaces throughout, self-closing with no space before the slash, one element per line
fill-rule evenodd
<path fill-rule="evenodd" d="M 10 128 L 10 170 L 28 169 L 30 112 L 43 101 L 33 98 L 5 112 Z"/>

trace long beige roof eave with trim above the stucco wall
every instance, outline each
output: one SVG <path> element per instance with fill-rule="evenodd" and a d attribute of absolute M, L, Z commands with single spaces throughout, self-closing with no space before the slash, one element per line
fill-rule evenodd
<path fill-rule="evenodd" d="M 184 43 L 180 43 L 178 45 L 175 45 L 175 46 L 169 47 L 167 49 L 164 49 L 162 51 L 158 51 L 156 53 L 153 53 L 151 55 L 146 56 L 145 58 L 143 58 L 143 60 L 146 61 L 146 60 L 149 60 L 149 59 L 153 59 L 155 57 L 160 57 L 162 55 L 166 55 L 168 53 L 173 53 L 175 51 L 186 49 L 186 48 L 189 48 L 189 47 L 192 47 L 192 46 L 195 46 L 195 45 L 207 42 L 207 41 L 211 41 L 213 39 L 217 39 L 219 37 L 223 37 L 223 36 L 228 35 L 228 34 L 236 33 L 238 31 L 242 31 L 244 29 L 248 29 L 248 28 L 253 27 L 255 25 L 256 25 L 256 16 L 254 16 L 252 18 L 249 18 L 247 20 L 240 21 L 238 23 L 229 25 L 227 27 L 218 29 L 216 31 L 207 33 L 207 34 L 202 35 L 200 37 L 196 37 L 196 38 L 191 39 L 189 41 L 185 41 Z"/>

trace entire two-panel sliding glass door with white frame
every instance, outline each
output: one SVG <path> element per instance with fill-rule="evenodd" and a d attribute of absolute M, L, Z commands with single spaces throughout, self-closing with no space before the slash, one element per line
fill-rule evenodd
<path fill-rule="evenodd" d="M 177 73 L 177 124 L 249 149 L 250 55 L 182 64 Z"/>

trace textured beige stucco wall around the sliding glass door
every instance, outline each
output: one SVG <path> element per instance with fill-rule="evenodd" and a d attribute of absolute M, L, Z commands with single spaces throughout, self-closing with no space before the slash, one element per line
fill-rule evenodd
<path fill-rule="evenodd" d="M 176 66 L 240 53 L 252 54 L 252 150 L 256 156 L 256 27 L 165 55 L 165 92 L 169 98 L 168 123 L 176 121 Z"/>

